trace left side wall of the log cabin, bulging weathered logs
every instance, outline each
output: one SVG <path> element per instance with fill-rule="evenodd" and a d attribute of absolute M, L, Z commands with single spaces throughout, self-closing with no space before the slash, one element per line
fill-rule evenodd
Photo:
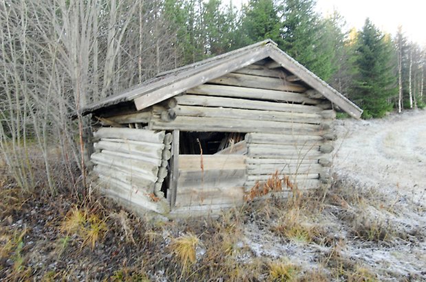
<path fill-rule="evenodd" d="M 170 134 L 131 128 L 94 132 L 92 162 L 100 189 L 136 209 L 167 213 L 161 191 L 170 158 Z"/>

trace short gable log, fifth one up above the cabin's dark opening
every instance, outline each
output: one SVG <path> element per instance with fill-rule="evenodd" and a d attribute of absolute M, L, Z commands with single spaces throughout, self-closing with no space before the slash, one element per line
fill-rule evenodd
<path fill-rule="evenodd" d="M 303 93 L 306 88 L 300 84 L 287 82 L 285 79 L 280 78 L 268 78 L 257 75 L 245 75 L 241 73 L 228 73 L 210 80 L 209 83 L 232 85 L 241 87 L 253 87 L 259 89 L 270 89 L 270 90 L 281 90 L 281 91 L 293 91 Z"/>

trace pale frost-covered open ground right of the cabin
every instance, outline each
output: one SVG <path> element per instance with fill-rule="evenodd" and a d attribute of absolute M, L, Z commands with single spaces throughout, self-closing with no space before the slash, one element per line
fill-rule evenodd
<path fill-rule="evenodd" d="M 426 110 L 372 121 L 337 121 L 334 169 L 361 185 L 426 203 Z"/>

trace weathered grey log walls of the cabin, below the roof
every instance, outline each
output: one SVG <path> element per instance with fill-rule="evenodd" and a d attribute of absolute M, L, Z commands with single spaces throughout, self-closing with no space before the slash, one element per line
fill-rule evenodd
<path fill-rule="evenodd" d="M 224 151 L 173 158 L 171 178 L 177 186 L 168 200 L 180 211 L 238 204 L 244 187 L 251 189 L 274 172 L 289 176 L 299 189 L 319 187 L 330 180 L 335 139 L 330 132 L 335 118 L 332 104 L 281 68 L 253 64 L 136 113 L 106 118 L 100 121 L 108 126 L 145 130 L 135 130 L 131 136 L 125 133 L 127 128 L 114 128 L 108 134 L 99 130 L 96 149 L 101 152 L 93 157 L 96 171 L 103 178 L 113 178 L 112 185 L 125 183 L 122 190 L 142 183 L 144 193 L 160 198 L 171 148 L 171 137 L 164 138 L 163 130 L 247 133 L 238 144 L 238 152 L 246 156 L 229 150 L 231 155 Z M 129 173 L 130 168 L 137 176 Z M 114 184 L 117 181 L 121 182 Z"/>

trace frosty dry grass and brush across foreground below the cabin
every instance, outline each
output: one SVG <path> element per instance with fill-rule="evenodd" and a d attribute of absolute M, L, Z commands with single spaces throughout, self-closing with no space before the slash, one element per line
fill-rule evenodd
<path fill-rule="evenodd" d="M 3 179 L 0 279 L 422 280 L 425 211 L 351 181 L 217 218 L 140 218 L 92 194 L 25 194 Z"/>

